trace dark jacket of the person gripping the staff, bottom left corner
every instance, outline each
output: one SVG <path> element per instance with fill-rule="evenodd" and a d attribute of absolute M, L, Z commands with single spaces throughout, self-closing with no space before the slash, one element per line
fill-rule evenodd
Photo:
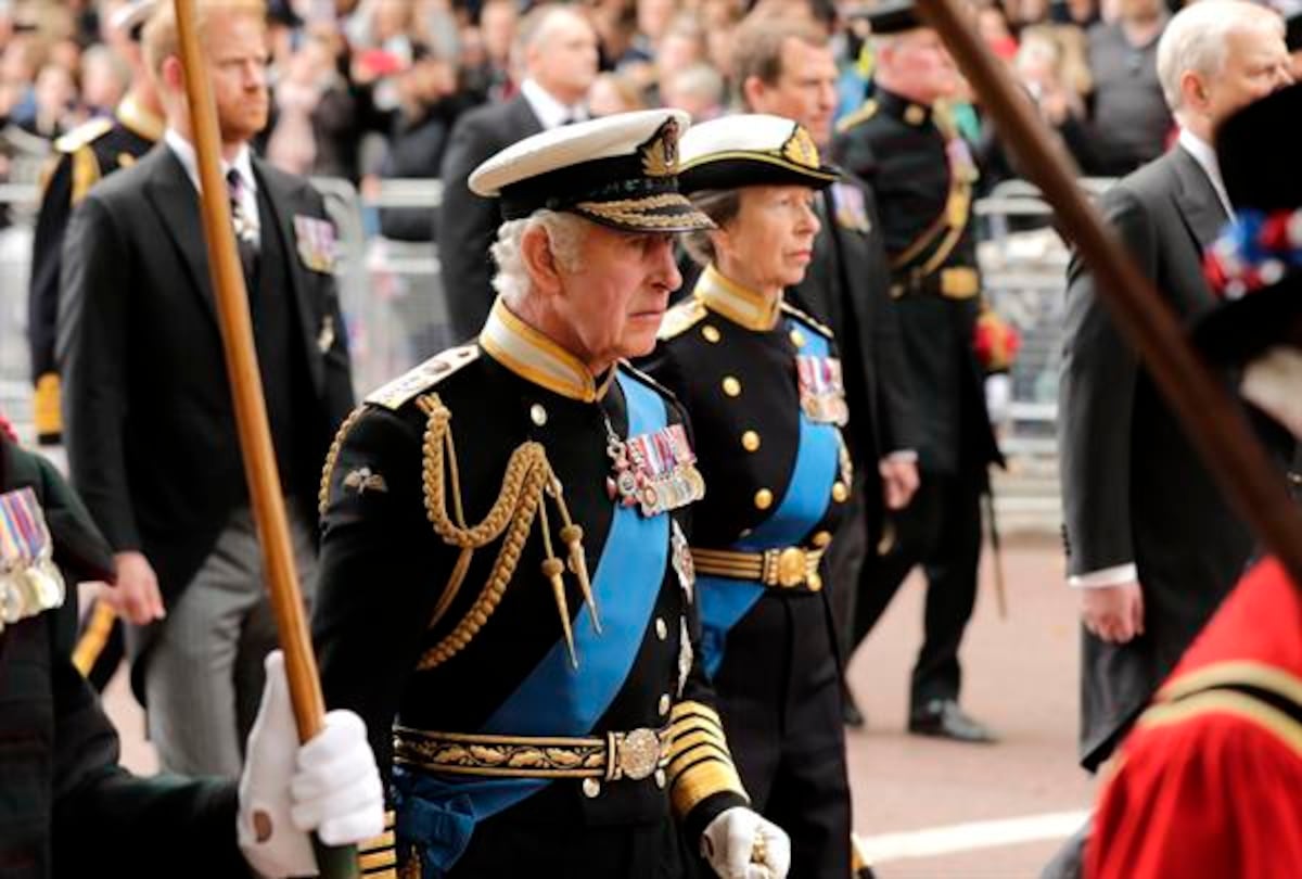
<path fill-rule="evenodd" d="M 25 487 L 43 508 L 68 595 L 0 629 L 0 875 L 249 876 L 233 781 L 118 767 L 117 733 L 72 664 L 76 583 L 112 577 L 112 553 L 53 466 L 0 435 L 0 494 Z"/>

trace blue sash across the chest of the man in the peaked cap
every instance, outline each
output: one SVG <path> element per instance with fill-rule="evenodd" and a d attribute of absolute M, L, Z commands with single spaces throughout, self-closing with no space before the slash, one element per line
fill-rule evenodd
<path fill-rule="evenodd" d="M 629 436 L 665 427 L 664 401 L 641 382 L 617 374 L 629 410 Z M 564 639 L 479 731 L 503 736 L 586 736 L 624 686 L 651 621 L 669 552 L 669 517 L 644 518 L 616 505 L 592 574 L 602 634 L 582 606 L 573 621 L 570 664 Z M 648 576 L 655 583 L 648 589 Z M 538 585 L 538 583 L 535 583 Z M 436 776 L 393 771 L 397 836 L 423 846 L 424 879 L 443 876 L 470 844 L 477 822 L 542 790 L 549 779 L 478 779 L 449 784 Z"/>

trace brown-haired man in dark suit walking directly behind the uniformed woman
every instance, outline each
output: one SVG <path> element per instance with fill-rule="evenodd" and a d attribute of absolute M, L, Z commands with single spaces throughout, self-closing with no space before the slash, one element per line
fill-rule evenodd
<path fill-rule="evenodd" d="M 820 150 L 828 148 L 838 74 L 822 27 L 790 17 L 753 17 L 737 33 L 733 68 L 747 109 L 796 120 Z M 832 542 L 845 547 L 829 552 L 827 574 L 849 635 L 863 553 L 878 544 L 883 510 L 902 509 L 918 488 L 918 436 L 872 190 L 846 174 L 820 193 L 816 211 L 822 232 L 809 272 L 792 296 L 832 327 L 850 367 L 846 432 L 859 490 L 852 492 L 852 513 Z M 845 697 L 848 721 L 862 725 L 848 689 Z"/>

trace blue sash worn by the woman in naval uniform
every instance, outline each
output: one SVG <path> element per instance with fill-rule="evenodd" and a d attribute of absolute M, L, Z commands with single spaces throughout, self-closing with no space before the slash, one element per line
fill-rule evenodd
<path fill-rule="evenodd" d="M 798 327 L 793 318 L 786 319 L 788 329 Z M 823 335 L 810 332 L 807 328 L 802 328 L 802 333 L 807 339 L 803 353 L 812 357 L 828 356 L 829 346 Z M 732 550 L 760 552 L 773 547 L 796 546 L 827 512 L 827 499 L 837 473 L 838 431 L 835 425 L 810 421 L 803 410 L 799 410 L 799 421 L 796 465 L 792 467 L 792 479 L 783 503 L 754 531 L 734 543 Z M 708 474 L 706 475 L 708 478 Z M 708 576 L 697 578 L 697 594 L 700 596 L 702 665 L 710 677 L 713 677 L 723 664 L 728 632 L 755 606 L 764 589 L 762 583 L 745 579 Z"/>

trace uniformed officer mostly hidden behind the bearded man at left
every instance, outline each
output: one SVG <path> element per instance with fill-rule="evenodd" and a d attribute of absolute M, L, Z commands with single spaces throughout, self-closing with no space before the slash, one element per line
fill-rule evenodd
<path fill-rule="evenodd" d="M 68 217 L 91 186 L 118 168 L 135 164 L 163 137 L 163 109 L 154 81 L 142 63 L 139 46 L 141 29 L 155 5 L 156 0 L 133 0 L 113 14 L 109 26 L 124 34 L 120 46 L 132 68 L 132 89 L 112 119 L 92 119 L 55 141 L 59 158 L 42 190 L 27 298 L 27 342 L 36 387 L 33 408 L 36 441 L 42 445 L 62 441 L 55 339 Z M 96 690 L 103 690 L 126 655 L 122 626 L 108 604 L 94 602 L 82 619 L 81 629 L 73 663 Z"/>

